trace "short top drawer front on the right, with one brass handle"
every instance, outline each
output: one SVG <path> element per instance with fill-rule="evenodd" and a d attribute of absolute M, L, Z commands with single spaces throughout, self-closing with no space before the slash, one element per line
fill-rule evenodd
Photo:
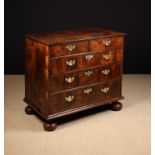
<path fill-rule="evenodd" d="M 91 51 L 123 48 L 123 37 L 104 38 L 90 41 Z"/>

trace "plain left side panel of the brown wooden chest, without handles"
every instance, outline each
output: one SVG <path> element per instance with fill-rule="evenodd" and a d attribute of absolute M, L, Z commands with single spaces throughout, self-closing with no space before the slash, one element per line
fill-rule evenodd
<path fill-rule="evenodd" d="M 25 101 L 48 115 L 48 46 L 25 38 Z"/>

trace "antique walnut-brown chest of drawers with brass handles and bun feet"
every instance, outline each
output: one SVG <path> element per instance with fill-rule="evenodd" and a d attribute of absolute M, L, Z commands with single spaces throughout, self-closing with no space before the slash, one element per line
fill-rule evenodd
<path fill-rule="evenodd" d="M 124 35 L 97 28 L 25 35 L 25 112 L 52 131 L 59 117 L 104 104 L 120 110 Z"/>

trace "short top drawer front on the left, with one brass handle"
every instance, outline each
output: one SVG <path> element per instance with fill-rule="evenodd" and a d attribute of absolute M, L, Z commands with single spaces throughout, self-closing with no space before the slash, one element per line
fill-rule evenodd
<path fill-rule="evenodd" d="M 88 52 L 88 41 L 55 45 L 51 47 L 51 57 Z"/>

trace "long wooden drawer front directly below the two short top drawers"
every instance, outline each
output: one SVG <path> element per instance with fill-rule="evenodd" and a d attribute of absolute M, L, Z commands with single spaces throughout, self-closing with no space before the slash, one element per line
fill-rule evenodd
<path fill-rule="evenodd" d="M 122 62 L 122 50 L 107 52 L 90 52 L 78 56 L 54 58 L 50 60 L 50 74 L 59 74 L 78 69 L 85 69 L 99 65 L 107 65 L 114 62 Z"/>

